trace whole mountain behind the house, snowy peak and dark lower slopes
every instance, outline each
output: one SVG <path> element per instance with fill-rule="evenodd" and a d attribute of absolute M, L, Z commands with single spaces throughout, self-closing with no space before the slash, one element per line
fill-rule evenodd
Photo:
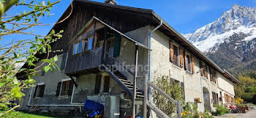
<path fill-rule="evenodd" d="M 237 75 L 256 71 L 256 9 L 234 4 L 186 39 L 222 68 Z"/>

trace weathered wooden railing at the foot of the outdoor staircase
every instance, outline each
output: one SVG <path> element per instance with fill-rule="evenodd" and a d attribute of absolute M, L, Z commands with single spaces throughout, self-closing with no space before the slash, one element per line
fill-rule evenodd
<path fill-rule="evenodd" d="M 148 101 L 148 88 L 149 87 L 153 87 L 154 90 L 157 90 L 159 93 L 161 93 L 162 95 L 165 96 L 165 98 L 167 98 L 169 101 L 171 101 L 172 103 L 176 104 L 176 116 L 178 118 L 181 118 L 181 102 L 180 101 L 176 101 L 173 98 L 171 98 L 169 95 L 167 95 L 164 91 L 162 91 L 159 87 L 157 87 L 156 85 L 154 85 L 151 82 L 148 82 L 148 76 L 145 75 L 144 77 L 144 107 L 143 107 L 143 117 L 147 116 L 147 107 L 150 107 L 151 110 L 153 110 L 154 112 L 156 112 L 159 117 L 168 117 L 167 114 L 165 114 L 163 111 L 161 111 L 160 109 L 157 108 L 157 106 L 154 106 L 150 101 Z"/>

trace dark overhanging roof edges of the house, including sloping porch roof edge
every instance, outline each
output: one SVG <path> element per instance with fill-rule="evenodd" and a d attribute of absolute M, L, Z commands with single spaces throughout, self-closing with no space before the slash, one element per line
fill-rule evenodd
<path fill-rule="evenodd" d="M 97 2 L 97 1 L 88 1 L 88 0 L 74 0 L 74 1 L 72 1 L 72 3 L 90 4 L 90 5 L 97 5 L 97 6 L 100 6 L 100 7 L 106 7 L 106 8 L 110 8 L 110 9 L 123 9 L 123 10 L 128 10 L 129 12 L 138 12 L 140 14 L 144 14 L 148 17 L 151 17 L 151 20 L 154 20 L 155 23 L 156 23 L 156 20 L 158 21 L 158 23 L 160 23 L 160 21 L 163 20 L 162 17 L 159 17 L 159 15 L 157 15 L 157 13 L 154 12 L 154 10 L 152 10 L 152 9 L 127 7 L 127 6 L 121 6 L 121 5 L 116 5 L 116 4 L 106 4 L 106 3 L 101 3 L 101 2 Z M 70 5 L 69 5 L 69 7 L 70 7 Z M 67 9 L 69 9 L 69 7 Z M 64 14 L 68 11 L 67 9 L 64 12 Z M 59 20 L 61 20 L 64 17 L 64 14 L 59 18 Z M 99 20 L 97 17 L 94 17 L 94 19 Z M 105 24 L 105 25 L 108 25 L 108 24 Z M 56 25 L 54 25 L 53 28 L 54 27 L 56 27 Z M 110 25 L 108 25 L 108 27 L 110 27 Z M 184 36 L 179 34 L 178 31 L 176 31 L 167 22 L 165 22 L 165 20 L 163 20 L 163 25 L 161 26 L 161 28 L 165 28 L 168 31 L 170 31 L 171 35 L 176 36 L 182 43 L 184 43 L 187 47 L 189 47 L 189 50 L 192 50 L 198 57 L 201 58 L 201 60 L 203 60 L 208 65 L 211 65 L 212 67 L 214 67 L 215 70 L 219 71 L 219 73 L 221 73 L 223 76 L 227 77 L 227 79 L 230 79 L 230 81 L 232 81 L 232 82 L 236 82 L 236 83 L 239 82 L 238 79 L 236 79 L 236 77 L 232 76 L 224 68 L 220 68 L 216 63 L 214 63 L 214 61 L 212 61 L 211 59 L 206 57 L 206 55 L 204 55 L 203 52 L 198 50 L 197 47 L 195 47 L 193 44 L 191 44 L 186 38 L 184 38 Z M 120 31 L 118 31 L 118 33 L 122 34 Z M 134 39 L 129 38 L 129 36 L 126 36 L 124 34 L 122 34 L 122 35 L 124 37 L 126 37 L 127 39 L 131 40 L 132 42 L 135 42 L 135 43 L 139 44 Z M 143 44 L 141 46 L 144 47 Z M 148 48 L 148 47 L 146 47 L 146 48 Z"/>

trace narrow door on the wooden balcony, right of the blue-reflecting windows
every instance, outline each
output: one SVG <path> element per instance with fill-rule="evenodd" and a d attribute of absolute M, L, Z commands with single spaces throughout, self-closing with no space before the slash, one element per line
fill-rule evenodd
<path fill-rule="evenodd" d="M 106 49 L 105 58 L 113 57 L 114 43 L 115 43 L 115 38 L 111 38 L 107 40 L 106 48 L 105 48 Z"/>

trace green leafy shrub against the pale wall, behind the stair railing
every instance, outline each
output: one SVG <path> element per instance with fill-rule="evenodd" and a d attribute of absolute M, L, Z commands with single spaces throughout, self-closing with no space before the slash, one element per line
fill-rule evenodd
<path fill-rule="evenodd" d="M 184 103 L 184 97 L 182 95 L 182 88 L 178 82 L 170 82 L 169 76 L 162 76 L 157 79 L 157 82 L 154 82 L 161 90 L 163 90 L 167 95 L 176 101 L 181 101 Z M 169 101 L 161 93 L 158 93 L 157 90 L 152 90 L 153 102 L 156 106 L 161 109 L 169 117 L 173 117 L 172 114 L 176 112 L 176 105 Z"/>

